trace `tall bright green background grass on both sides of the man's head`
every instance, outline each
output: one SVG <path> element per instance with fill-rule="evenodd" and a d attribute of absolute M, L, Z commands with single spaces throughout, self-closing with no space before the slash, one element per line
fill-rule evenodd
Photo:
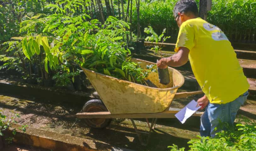
<path fill-rule="evenodd" d="M 178 0 L 142 1 L 140 9 L 141 33 L 143 33 L 144 27 L 151 25 L 158 34 L 166 28 L 167 35 L 177 35 L 178 27 L 172 12 L 177 1 Z M 207 14 L 207 21 L 220 27 L 230 40 L 243 41 L 246 39 L 246 36 L 249 38 L 249 35 L 252 39 L 253 34 L 255 39 L 255 2 L 255 0 L 212 0 L 212 10 Z M 197 3 L 199 3 L 199 0 L 197 0 Z M 136 9 L 135 7 L 134 5 L 134 10 Z M 132 26 L 136 27 L 136 25 L 137 13 L 133 13 Z"/>

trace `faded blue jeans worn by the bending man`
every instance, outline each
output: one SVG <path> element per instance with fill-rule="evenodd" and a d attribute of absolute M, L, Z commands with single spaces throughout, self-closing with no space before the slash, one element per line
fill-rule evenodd
<path fill-rule="evenodd" d="M 221 124 L 228 123 L 229 126 L 234 126 L 234 120 L 238 109 L 246 101 L 249 95 L 246 91 L 242 96 L 239 96 L 236 100 L 226 104 L 211 104 L 205 109 L 205 113 L 201 116 L 200 135 L 201 136 L 215 136 L 217 132 L 220 132 Z M 215 128 L 217 128 L 215 130 Z"/>

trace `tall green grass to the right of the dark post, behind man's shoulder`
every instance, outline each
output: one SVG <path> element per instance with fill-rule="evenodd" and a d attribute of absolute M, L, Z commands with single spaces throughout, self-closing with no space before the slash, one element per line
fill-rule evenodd
<path fill-rule="evenodd" d="M 255 0 L 213 0 L 207 20 L 220 27 L 229 39 L 244 41 L 249 34 L 256 34 L 254 2 Z"/>

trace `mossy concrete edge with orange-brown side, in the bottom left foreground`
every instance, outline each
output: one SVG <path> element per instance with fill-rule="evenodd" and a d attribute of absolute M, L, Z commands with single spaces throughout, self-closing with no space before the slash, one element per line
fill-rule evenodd
<path fill-rule="evenodd" d="M 12 128 L 5 132 L 5 137 L 12 136 L 11 130 L 16 129 L 17 133 L 13 140 L 15 143 L 40 147 L 53 151 L 129 150 L 125 148 L 115 148 L 110 144 L 106 144 L 100 141 L 93 141 L 30 127 L 26 128 L 26 132 L 24 133 L 21 130 L 18 130 L 19 127 L 20 125 L 18 124 L 12 125 Z"/>

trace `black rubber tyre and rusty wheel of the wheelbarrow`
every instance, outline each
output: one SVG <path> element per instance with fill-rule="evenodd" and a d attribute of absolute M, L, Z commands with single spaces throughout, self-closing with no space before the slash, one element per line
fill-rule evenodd
<path fill-rule="evenodd" d="M 101 100 L 93 99 L 84 104 L 82 112 L 106 112 L 107 107 Z M 88 126 L 96 129 L 103 129 L 109 126 L 111 118 L 87 118 L 85 122 Z"/>

